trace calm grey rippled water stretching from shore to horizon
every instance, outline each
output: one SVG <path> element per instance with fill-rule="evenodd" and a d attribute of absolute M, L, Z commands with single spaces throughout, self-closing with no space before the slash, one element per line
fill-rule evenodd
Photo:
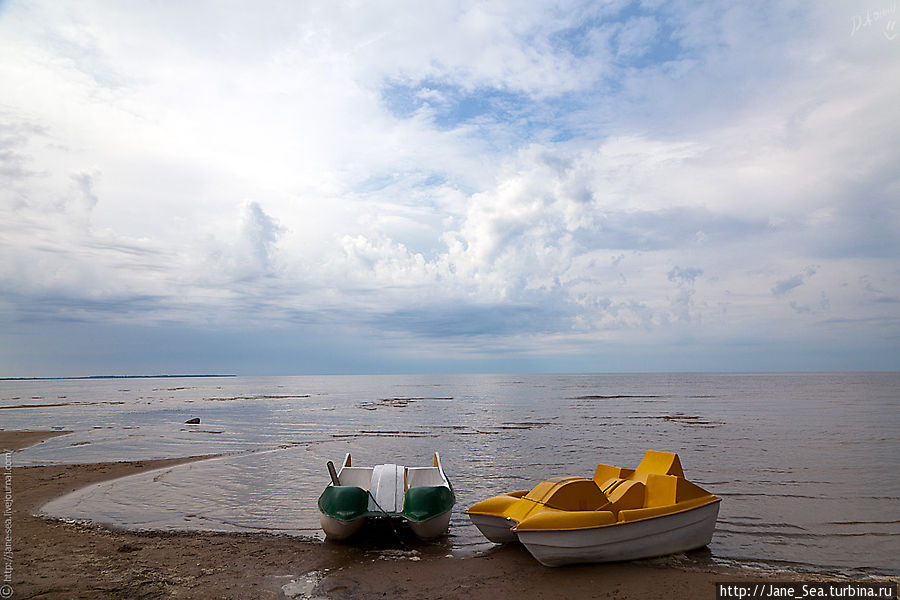
<path fill-rule="evenodd" d="M 0 382 L 0 427 L 74 430 L 15 465 L 227 453 L 87 488 L 56 516 L 321 538 L 327 460 L 439 451 L 457 492 L 439 544 L 466 554 L 490 547 L 468 505 L 657 449 L 723 499 L 707 559 L 851 576 L 900 573 L 898 424 L 896 373 Z"/>

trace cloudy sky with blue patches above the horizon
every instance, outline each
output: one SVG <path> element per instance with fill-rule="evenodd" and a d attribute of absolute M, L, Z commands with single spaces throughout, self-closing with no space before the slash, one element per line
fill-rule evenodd
<path fill-rule="evenodd" d="M 0 376 L 900 370 L 894 0 L 0 0 Z"/>

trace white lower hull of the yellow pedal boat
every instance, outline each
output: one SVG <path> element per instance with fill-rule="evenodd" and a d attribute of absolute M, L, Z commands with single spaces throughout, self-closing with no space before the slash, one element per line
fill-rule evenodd
<path fill-rule="evenodd" d="M 635 560 L 706 546 L 712 540 L 718 514 L 719 501 L 715 501 L 679 513 L 617 525 L 519 531 L 513 536 L 548 567 Z"/>

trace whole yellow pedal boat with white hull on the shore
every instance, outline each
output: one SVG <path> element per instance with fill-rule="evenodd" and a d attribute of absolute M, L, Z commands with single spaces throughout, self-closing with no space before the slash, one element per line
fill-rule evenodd
<path fill-rule="evenodd" d="M 673 452 L 648 450 L 636 469 L 598 465 L 591 479 L 556 477 L 466 511 L 492 542 L 521 542 L 548 567 L 649 558 L 702 548 L 721 499 L 684 478 Z"/>

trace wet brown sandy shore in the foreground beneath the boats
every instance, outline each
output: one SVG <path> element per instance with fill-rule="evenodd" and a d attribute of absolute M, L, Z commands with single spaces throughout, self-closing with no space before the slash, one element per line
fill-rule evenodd
<path fill-rule="evenodd" d="M 0 445 L 21 448 L 48 433 L 57 432 L 4 431 Z M 47 501 L 91 483 L 199 458 L 13 467 L 13 598 L 493 600 L 526 590 L 541 598 L 714 598 L 717 581 L 763 579 L 692 560 L 683 567 L 668 559 L 549 569 L 516 545 L 453 558 L 435 544 L 125 531 L 35 516 Z"/>

